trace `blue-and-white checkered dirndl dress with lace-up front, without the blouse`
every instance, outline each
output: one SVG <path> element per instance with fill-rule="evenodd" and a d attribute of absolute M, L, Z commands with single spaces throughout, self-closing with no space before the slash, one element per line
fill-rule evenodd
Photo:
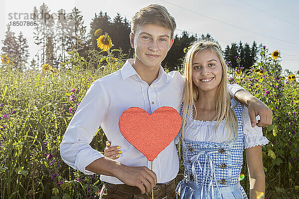
<path fill-rule="evenodd" d="M 234 139 L 223 143 L 181 141 L 185 178 L 176 188 L 181 199 L 248 199 L 239 181 L 244 150 L 243 105 L 232 99 L 231 108 L 238 118 Z"/>

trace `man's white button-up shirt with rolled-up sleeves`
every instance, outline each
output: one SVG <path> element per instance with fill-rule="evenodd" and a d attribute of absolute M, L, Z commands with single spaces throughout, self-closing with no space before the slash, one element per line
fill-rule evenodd
<path fill-rule="evenodd" d="M 119 118 L 126 109 L 133 106 L 141 107 L 149 114 L 161 106 L 170 106 L 179 111 L 184 79 L 178 71 L 167 74 L 160 66 L 158 78 L 149 86 L 137 74 L 133 62 L 134 59 L 127 60 L 122 69 L 96 80 L 87 90 L 60 144 L 61 157 L 72 168 L 84 174 L 93 174 L 85 167 L 104 157 L 89 145 L 101 126 L 111 146 L 121 146 L 123 153 L 117 159 L 118 162 L 150 169 L 148 159 L 121 134 Z M 231 96 L 240 89 L 243 88 L 237 84 L 228 85 Z M 167 183 L 176 177 L 178 168 L 178 155 L 172 141 L 153 160 L 152 170 L 156 174 L 157 183 Z M 100 179 L 112 184 L 123 184 L 111 176 L 101 175 Z"/>

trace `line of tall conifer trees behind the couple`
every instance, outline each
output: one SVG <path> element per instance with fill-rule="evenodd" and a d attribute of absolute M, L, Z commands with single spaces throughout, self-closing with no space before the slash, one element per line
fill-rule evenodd
<path fill-rule="evenodd" d="M 85 59 L 90 59 L 90 50 L 100 51 L 97 47 L 98 35 L 94 33 L 101 29 L 102 34 L 107 32 L 114 44 L 114 48 L 121 48 L 123 52 L 127 53 L 128 57 L 133 57 L 134 50 L 131 48 L 129 34 L 131 32 L 130 21 L 122 17 L 119 13 L 111 19 L 105 12 L 95 13 L 95 16 L 90 22 L 90 31 L 87 32 L 84 26 L 83 15 L 78 8 L 74 7 L 72 12 L 65 17 L 65 10 L 57 11 L 57 20 L 51 16 L 49 7 L 43 3 L 38 9 L 33 8 L 33 20 L 36 21 L 34 27 L 34 44 L 37 46 L 35 58 L 31 60 L 30 66 L 35 68 L 43 64 L 49 64 L 52 67 L 59 67 L 63 62 L 67 61 L 68 51 L 76 51 Z M 18 36 L 14 36 L 7 26 L 5 38 L 2 41 L 2 52 L 8 54 L 15 60 L 15 66 L 18 69 L 23 69 L 24 65 L 28 63 L 28 44 L 26 38 L 20 32 Z M 183 67 L 183 58 L 186 49 L 190 44 L 198 38 L 213 39 L 210 34 L 197 36 L 189 35 L 188 32 L 183 31 L 182 34 L 174 36 L 174 43 L 169 50 L 166 58 L 162 62 L 162 66 L 169 71 L 180 70 Z M 254 41 L 250 46 L 248 43 L 243 44 L 241 41 L 227 45 L 223 50 L 226 61 L 231 67 L 236 68 L 239 64 L 244 68 L 250 68 L 257 60 L 258 46 Z M 240 63 L 236 61 L 236 57 L 240 59 Z M 94 67 L 98 65 L 95 64 Z"/>

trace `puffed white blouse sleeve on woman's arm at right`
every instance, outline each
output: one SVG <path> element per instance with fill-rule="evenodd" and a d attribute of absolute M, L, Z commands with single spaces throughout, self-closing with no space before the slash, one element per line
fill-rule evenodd
<path fill-rule="evenodd" d="M 257 121 L 260 119 L 258 115 Z M 258 145 L 266 145 L 269 140 L 263 136 L 262 127 L 252 127 L 250 117 L 248 115 L 248 107 L 244 106 L 243 110 L 243 133 L 244 133 L 244 148 L 250 148 Z"/>

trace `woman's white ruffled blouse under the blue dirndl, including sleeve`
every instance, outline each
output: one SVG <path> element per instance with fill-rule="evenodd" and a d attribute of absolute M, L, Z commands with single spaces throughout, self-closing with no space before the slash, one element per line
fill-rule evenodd
<path fill-rule="evenodd" d="M 258 115 L 257 121 L 260 119 Z M 225 126 L 225 119 L 221 121 L 218 128 L 213 128 L 217 121 L 202 121 L 193 119 L 193 110 L 188 115 L 188 124 L 184 128 L 183 138 L 192 141 L 206 141 L 222 143 L 229 139 L 231 131 Z M 225 128 L 225 129 L 224 129 Z M 269 140 L 263 136 L 261 127 L 251 126 L 248 108 L 243 109 L 243 133 L 244 133 L 244 148 L 250 148 L 258 145 L 265 145 Z"/>

